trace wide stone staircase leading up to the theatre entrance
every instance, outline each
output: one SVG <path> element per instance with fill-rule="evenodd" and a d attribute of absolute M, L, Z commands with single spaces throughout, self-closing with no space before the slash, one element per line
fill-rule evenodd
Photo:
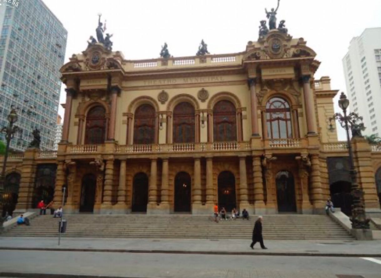
<path fill-rule="evenodd" d="M 248 220 L 220 220 L 202 215 L 65 215 L 65 237 L 94 238 L 210 238 L 251 239 L 255 216 Z M 264 215 L 266 239 L 354 239 L 326 215 Z M 30 226 L 20 225 L 3 236 L 58 236 L 59 219 L 35 217 Z"/>

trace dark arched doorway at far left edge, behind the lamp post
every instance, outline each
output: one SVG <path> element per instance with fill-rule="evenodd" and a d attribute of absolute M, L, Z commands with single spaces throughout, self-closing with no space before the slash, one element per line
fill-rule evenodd
<path fill-rule="evenodd" d="M 12 215 L 14 209 L 16 208 L 17 199 L 19 197 L 19 187 L 20 187 L 21 176 L 19 173 L 13 172 L 6 175 L 3 193 L 3 217 L 6 212 Z"/>

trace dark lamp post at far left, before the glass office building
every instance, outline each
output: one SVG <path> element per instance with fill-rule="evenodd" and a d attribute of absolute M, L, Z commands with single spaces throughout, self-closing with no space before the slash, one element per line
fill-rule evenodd
<path fill-rule="evenodd" d="M 8 126 L 3 127 L 1 129 L 2 133 L 5 133 L 5 140 L 6 140 L 6 148 L 5 148 L 5 154 L 4 154 L 4 161 L 3 161 L 3 169 L 0 176 L 0 231 L 3 228 L 3 191 L 4 191 L 4 182 L 5 182 L 5 170 L 6 170 L 6 161 L 8 159 L 8 151 L 9 151 L 9 145 L 11 143 L 12 138 L 14 137 L 14 133 L 18 132 L 20 129 L 18 126 L 14 125 L 15 122 L 17 122 L 17 113 L 15 109 L 12 109 L 11 112 L 8 115 Z"/>

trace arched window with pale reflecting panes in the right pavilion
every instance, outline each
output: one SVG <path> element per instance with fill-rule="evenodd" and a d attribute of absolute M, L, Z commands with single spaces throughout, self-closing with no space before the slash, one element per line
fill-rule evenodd
<path fill-rule="evenodd" d="M 291 109 L 283 98 L 271 98 L 266 104 L 266 124 L 269 138 L 292 138 Z"/>

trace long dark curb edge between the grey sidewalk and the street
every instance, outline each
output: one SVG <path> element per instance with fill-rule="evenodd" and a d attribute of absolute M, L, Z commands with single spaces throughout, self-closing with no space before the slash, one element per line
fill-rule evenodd
<path fill-rule="evenodd" d="M 199 254 L 199 255 L 242 255 L 242 256 L 298 256 L 298 257 L 381 257 L 381 254 L 342 254 L 319 252 L 233 252 L 233 251 L 182 251 L 182 250 L 133 250 L 133 249 L 82 249 L 82 248 L 24 248 L 0 247 L 9 251 L 64 251 L 64 252 L 110 252 L 110 253 L 146 253 L 146 254 Z M 1 274 L 1 273 L 0 273 Z M 0 275 L 1 276 L 1 275 Z"/>

